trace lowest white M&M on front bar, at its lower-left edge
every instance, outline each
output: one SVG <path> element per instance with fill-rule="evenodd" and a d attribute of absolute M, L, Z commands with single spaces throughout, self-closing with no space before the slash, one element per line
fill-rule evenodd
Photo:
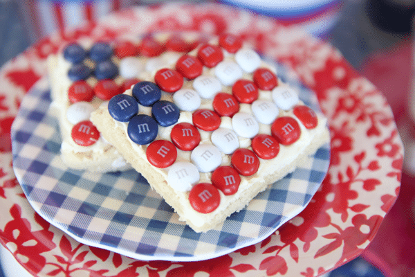
<path fill-rule="evenodd" d="M 189 191 L 200 179 L 199 170 L 193 163 L 179 161 L 174 163 L 167 173 L 169 186 L 178 191 Z"/>

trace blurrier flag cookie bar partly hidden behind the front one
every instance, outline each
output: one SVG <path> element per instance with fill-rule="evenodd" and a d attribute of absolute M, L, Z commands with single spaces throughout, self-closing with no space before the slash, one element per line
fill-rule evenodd
<path fill-rule="evenodd" d="M 158 33 L 113 42 L 81 39 L 48 57 L 51 111 L 59 119 L 61 157 L 69 168 L 111 172 L 131 168 L 102 139 L 89 116 L 102 102 L 148 78 L 199 44 L 196 35 Z"/>

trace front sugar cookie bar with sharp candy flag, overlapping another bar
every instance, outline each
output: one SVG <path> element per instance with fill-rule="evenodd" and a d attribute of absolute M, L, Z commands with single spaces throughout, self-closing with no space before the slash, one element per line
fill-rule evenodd
<path fill-rule="evenodd" d="M 329 142 L 326 118 L 229 34 L 114 96 L 91 120 L 196 232 Z"/>

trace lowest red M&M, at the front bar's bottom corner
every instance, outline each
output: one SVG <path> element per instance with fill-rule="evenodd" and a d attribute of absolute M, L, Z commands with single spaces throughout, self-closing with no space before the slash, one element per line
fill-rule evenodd
<path fill-rule="evenodd" d="M 190 190 L 189 202 L 194 211 L 212 213 L 221 204 L 221 195 L 212 184 L 199 183 Z"/>

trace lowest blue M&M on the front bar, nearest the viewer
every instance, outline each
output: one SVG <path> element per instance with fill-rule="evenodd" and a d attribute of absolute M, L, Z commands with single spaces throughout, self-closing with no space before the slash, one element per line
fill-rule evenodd
<path fill-rule="evenodd" d="M 156 139 L 158 125 L 151 116 L 138 114 L 129 120 L 127 134 L 131 141 L 145 145 Z"/>

